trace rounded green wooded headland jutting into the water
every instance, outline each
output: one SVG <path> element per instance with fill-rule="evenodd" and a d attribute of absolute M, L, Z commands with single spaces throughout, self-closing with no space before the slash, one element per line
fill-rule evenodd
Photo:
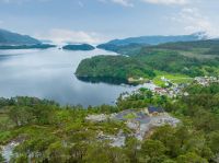
<path fill-rule="evenodd" d="M 155 74 L 138 59 L 124 56 L 97 56 L 84 59 L 77 69 L 77 77 L 82 80 L 127 82 L 127 79 L 143 77 L 151 79 Z M 114 83 L 115 83 L 114 82 Z"/>

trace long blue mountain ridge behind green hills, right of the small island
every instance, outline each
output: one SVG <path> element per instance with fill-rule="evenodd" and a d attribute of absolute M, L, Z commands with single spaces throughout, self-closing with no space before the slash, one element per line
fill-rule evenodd
<path fill-rule="evenodd" d="M 105 49 L 122 55 L 127 55 L 132 51 L 137 54 L 145 46 L 158 46 L 169 43 L 177 42 L 196 42 L 196 40 L 207 40 L 209 39 L 208 35 L 205 32 L 198 32 L 191 35 L 154 35 L 154 36 L 139 36 L 139 37 L 128 37 L 124 39 L 113 39 L 105 44 L 100 44 L 96 47 L 100 49 Z"/>

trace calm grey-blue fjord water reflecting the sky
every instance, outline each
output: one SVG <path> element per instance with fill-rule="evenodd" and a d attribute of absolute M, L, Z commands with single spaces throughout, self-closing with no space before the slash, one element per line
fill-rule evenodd
<path fill-rule="evenodd" d="M 100 49 L 0 50 L 0 96 L 35 96 L 54 100 L 62 105 L 113 104 L 120 93 L 135 88 L 88 83 L 74 77 L 82 59 L 97 55 L 116 54 Z"/>

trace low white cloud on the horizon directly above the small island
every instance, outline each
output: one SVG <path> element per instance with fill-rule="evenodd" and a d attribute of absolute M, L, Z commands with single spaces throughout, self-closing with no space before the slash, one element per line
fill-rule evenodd
<path fill-rule="evenodd" d="M 105 40 L 105 37 L 97 33 L 88 33 L 83 31 L 70 31 L 62 28 L 54 28 L 48 33 L 37 34 L 35 37 L 39 39 L 49 39 L 56 44 L 64 43 L 89 43 L 99 44 Z"/>

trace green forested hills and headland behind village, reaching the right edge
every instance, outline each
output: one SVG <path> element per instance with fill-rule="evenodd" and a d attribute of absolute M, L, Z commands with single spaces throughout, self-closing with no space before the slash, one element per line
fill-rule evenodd
<path fill-rule="evenodd" d="M 97 56 L 82 60 L 76 75 L 85 81 L 122 79 L 120 83 L 142 83 L 163 74 L 174 80 L 178 77 L 180 81 L 219 74 L 217 39 L 147 45 L 138 53 L 130 50 L 131 47 L 126 50 L 129 51 L 126 56 Z M 122 48 L 125 50 L 124 46 Z"/>

